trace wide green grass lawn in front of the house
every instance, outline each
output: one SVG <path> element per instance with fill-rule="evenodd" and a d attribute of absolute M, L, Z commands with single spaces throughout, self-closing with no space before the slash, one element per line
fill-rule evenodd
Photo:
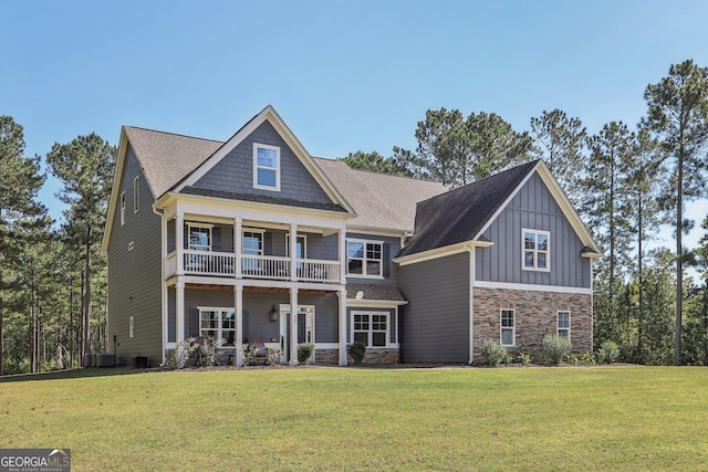
<path fill-rule="evenodd" d="M 28 379 L 0 385 L 0 448 L 71 448 L 75 471 L 708 470 L 707 406 L 690 367 Z"/>

